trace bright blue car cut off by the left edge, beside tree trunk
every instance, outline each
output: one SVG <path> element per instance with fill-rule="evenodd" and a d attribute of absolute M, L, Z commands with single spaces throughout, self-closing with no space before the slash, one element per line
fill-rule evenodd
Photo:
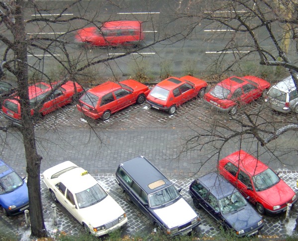
<path fill-rule="evenodd" d="M 4 215 L 15 215 L 29 208 L 26 182 L 0 160 L 0 207 Z"/>

